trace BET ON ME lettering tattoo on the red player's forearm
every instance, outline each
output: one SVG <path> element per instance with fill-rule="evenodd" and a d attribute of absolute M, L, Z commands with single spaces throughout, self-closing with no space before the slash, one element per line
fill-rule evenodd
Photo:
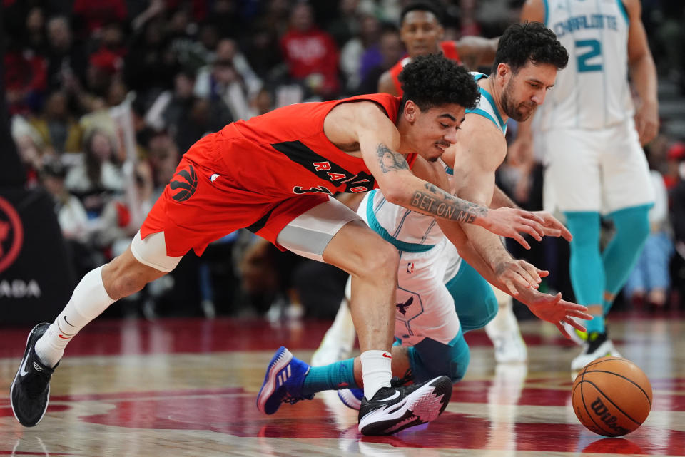
<path fill-rule="evenodd" d="M 414 192 L 409 205 L 418 212 L 467 224 L 487 214 L 486 207 L 454 197 L 435 185 L 427 183 L 425 188 L 427 192 Z"/>

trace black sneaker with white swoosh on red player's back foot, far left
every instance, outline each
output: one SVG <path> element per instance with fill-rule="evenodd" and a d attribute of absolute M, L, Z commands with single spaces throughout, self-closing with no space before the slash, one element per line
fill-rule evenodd
<path fill-rule="evenodd" d="M 52 376 L 54 368 L 44 365 L 34 350 L 36 342 L 43 336 L 48 327 L 50 324 L 43 322 L 36 325 L 29 333 L 24 359 L 21 359 L 21 365 L 16 371 L 10 389 L 14 417 L 25 427 L 33 427 L 39 423 L 43 419 L 46 409 L 48 409 L 50 376 Z M 57 365 L 55 365 L 56 367 Z"/>

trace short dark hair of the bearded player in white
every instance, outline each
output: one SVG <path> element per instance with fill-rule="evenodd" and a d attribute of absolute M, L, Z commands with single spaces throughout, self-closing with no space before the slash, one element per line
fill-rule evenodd
<path fill-rule="evenodd" d="M 529 60 L 536 64 L 551 63 L 560 70 L 569 63 L 569 53 L 544 24 L 526 22 L 507 27 L 499 38 L 492 73 L 497 72 L 499 63 L 507 63 L 516 73 Z"/>

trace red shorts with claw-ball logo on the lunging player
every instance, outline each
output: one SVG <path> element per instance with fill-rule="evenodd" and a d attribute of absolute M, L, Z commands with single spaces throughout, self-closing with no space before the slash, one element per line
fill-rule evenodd
<path fill-rule="evenodd" d="M 253 187 L 258 188 L 258 183 Z M 183 155 L 171 182 L 141 227 L 141 237 L 164 232 L 171 257 L 195 250 L 240 228 L 249 228 L 278 246 L 276 237 L 290 221 L 328 200 L 328 195 L 270 197 L 245 189 L 231 179 L 231 170 L 200 140 Z M 283 247 L 278 246 L 280 249 Z"/>

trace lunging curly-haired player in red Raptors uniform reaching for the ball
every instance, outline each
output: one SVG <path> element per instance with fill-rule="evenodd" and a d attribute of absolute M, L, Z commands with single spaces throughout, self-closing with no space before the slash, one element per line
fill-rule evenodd
<path fill-rule="evenodd" d="M 390 386 L 397 250 L 330 195 L 377 187 L 398 205 L 481 225 L 519 242 L 519 232 L 540 239 L 545 229 L 532 213 L 489 210 L 420 178 L 444 173 L 435 161 L 456 142 L 465 108 L 475 105 L 478 91 L 463 68 L 439 55 L 415 59 L 401 78 L 402 99 L 374 94 L 300 103 L 232 123 L 193 145 L 128 250 L 88 272 L 56 320 L 29 334 L 11 386 L 19 422 L 35 426 L 42 419 L 54 368 L 83 326 L 170 272 L 188 250 L 199 255 L 208 243 L 242 227 L 352 274 L 352 317 L 367 392 L 360 413 L 364 433 L 435 419 L 450 399 L 446 376 L 410 388 Z M 282 357 L 270 364 L 272 391 L 258 405 L 262 411 L 275 411 L 273 403 L 283 397 L 301 398 L 303 376 L 288 362 Z"/>

